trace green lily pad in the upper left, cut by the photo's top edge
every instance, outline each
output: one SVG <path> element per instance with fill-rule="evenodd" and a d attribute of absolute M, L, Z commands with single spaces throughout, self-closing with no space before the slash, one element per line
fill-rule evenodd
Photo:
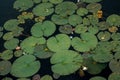
<path fill-rule="evenodd" d="M 32 0 L 16 0 L 13 4 L 13 8 L 21 12 L 31 8 L 33 5 Z"/>

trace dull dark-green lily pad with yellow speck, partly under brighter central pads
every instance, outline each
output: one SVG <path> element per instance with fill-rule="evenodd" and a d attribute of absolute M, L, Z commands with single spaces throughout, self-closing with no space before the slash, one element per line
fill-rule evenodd
<path fill-rule="evenodd" d="M 34 55 L 40 59 L 46 59 L 53 55 L 53 52 L 50 51 L 46 44 L 36 45 L 34 49 Z"/>

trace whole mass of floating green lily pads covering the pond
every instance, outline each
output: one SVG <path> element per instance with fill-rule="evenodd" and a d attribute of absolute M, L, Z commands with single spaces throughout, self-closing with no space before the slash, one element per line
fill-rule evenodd
<path fill-rule="evenodd" d="M 0 53 L 0 76 L 57 80 L 84 66 L 92 75 L 109 66 L 112 73 L 108 80 L 120 80 L 120 15 L 99 18 L 100 1 L 16 0 L 13 8 L 21 15 L 0 27 L 5 48 Z M 27 20 L 34 24 L 29 27 L 29 35 L 20 40 Z M 50 60 L 53 75 L 40 78 L 41 59 Z M 13 79 L 6 76 L 2 80 Z M 95 76 L 89 80 L 107 79 Z"/>

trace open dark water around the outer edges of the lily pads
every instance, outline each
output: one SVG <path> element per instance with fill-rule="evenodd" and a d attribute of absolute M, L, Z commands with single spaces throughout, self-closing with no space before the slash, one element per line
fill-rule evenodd
<path fill-rule="evenodd" d="M 0 26 L 3 26 L 4 22 L 9 20 L 9 19 L 14 19 L 16 18 L 19 13 L 13 9 L 13 2 L 15 0 L 0 0 Z M 69 1 L 75 1 L 76 0 L 69 0 Z M 101 2 L 102 4 L 102 10 L 104 12 L 104 16 L 107 17 L 110 14 L 119 14 L 120 15 L 120 0 L 103 0 Z M 2 41 L 0 39 L 0 52 L 3 51 L 3 45 Z M 41 70 L 39 71 L 39 74 L 41 76 L 45 74 L 50 74 L 52 75 L 51 69 L 48 66 L 50 65 L 49 59 L 47 60 L 40 60 L 42 67 Z M 98 74 L 100 76 L 108 77 L 108 75 L 111 73 L 109 68 L 107 67 L 105 70 L 101 72 L 101 74 Z M 85 77 L 81 78 L 77 73 L 71 74 L 68 76 L 62 76 L 58 80 L 89 80 L 90 77 L 93 75 L 87 74 L 85 72 Z M 7 75 L 8 77 L 12 77 L 10 74 Z M 94 75 L 95 76 L 95 75 Z M 5 76 L 0 76 L 0 80 L 5 77 Z M 15 78 L 14 78 L 15 80 Z"/>

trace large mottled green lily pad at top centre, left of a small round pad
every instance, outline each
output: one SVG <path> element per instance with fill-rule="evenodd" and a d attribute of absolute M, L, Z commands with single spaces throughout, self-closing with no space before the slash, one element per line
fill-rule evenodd
<path fill-rule="evenodd" d="M 70 1 L 64 1 L 55 7 L 55 13 L 64 16 L 72 15 L 73 13 L 75 13 L 76 9 L 77 9 L 77 5 L 75 3 Z"/>

